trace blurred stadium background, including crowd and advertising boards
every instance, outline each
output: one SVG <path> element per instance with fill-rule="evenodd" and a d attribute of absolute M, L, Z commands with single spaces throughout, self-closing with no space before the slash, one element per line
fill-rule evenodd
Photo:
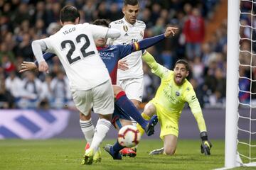
<path fill-rule="evenodd" d="M 55 117 L 55 123 L 63 121 L 66 126 L 62 130 L 65 130 L 61 133 L 62 130 L 57 130 L 49 137 L 82 138 L 78 113 L 58 58 L 50 60 L 50 74 L 18 73 L 22 61 L 34 61 L 32 40 L 45 38 L 60 28 L 60 8 L 67 4 L 80 10 L 81 23 L 92 22 L 97 18 L 114 21 L 123 17 L 121 0 L 0 0 L 0 138 L 20 137 L 12 128 L 6 128 L 7 120 L 18 123 L 17 128 L 20 130 L 20 126 L 28 129 L 29 137 L 21 138 L 37 138 L 38 135 L 35 134 L 43 128 L 38 125 L 40 121 L 32 120 L 29 114 L 35 114 L 35 117 L 51 115 Z M 166 39 L 148 51 L 169 69 L 174 67 L 177 59 L 190 62 L 191 74 L 188 79 L 203 107 L 210 138 L 214 139 L 223 139 L 225 131 L 227 5 L 228 1 L 225 0 L 144 0 L 140 1 L 141 11 L 138 17 L 146 23 L 145 38 L 164 33 L 167 25 L 179 28 L 174 38 Z M 242 11 L 250 8 L 251 4 L 242 2 Z M 249 18 L 241 19 L 242 22 L 250 22 Z M 191 27 L 187 27 L 188 22 L 192 23 Z M 249 36 L 246 28 L 240 32 L 244 37 Z M 189 47 L 193 47 L 194 51 L 188 50 Z M 243 41 L 241 48 L 250 50 L 250 43 Z M 247 62 L 246 58 L 244 60 Z M 240 74 L 247 74 L 247 70 L 242 70 Z M 144 64 L 144 103 L 154 96 L 158 86 L 159 78 L 151 74 L 149 67 Z M 241 81 L 240 86 L 247 89 L 250 84 Z M 240 93 L 239 98 L 247 103 L 250 96 Z M 141 108 L 143 106 L 142 104 Z M 14 116 L 11 117 L 11 114 Z M 65 120 L 62 114 L 65 115 Z M 45 119 L 49 120 L 48 117 Z M 38 131 L 33 130 L 35 125 L 39 127 Z M 181 138 L 198 139 L 196 120 L 187 106 L 181 115 L 180 125 Z M 156 130 L 154 137 L 159 135 L 159 128 Z M 113 137 L 114 134 L 116 132 L 112 129 L 108 137 Z"/>

